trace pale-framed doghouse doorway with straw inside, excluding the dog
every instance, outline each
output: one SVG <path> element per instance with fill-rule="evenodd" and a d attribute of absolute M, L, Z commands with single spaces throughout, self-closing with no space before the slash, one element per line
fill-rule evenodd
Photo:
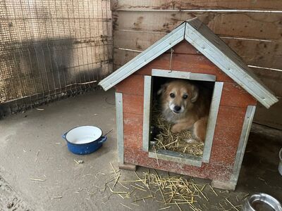
<path fill-rule="evenodd" d="M 173 134 L 173 124 L 167 122 L 161 114 L 161 106 L 157 92 L 163 84 L 174 79 L 187 79 L 188 82 L 210 92 L 209 117 L 204 143 L 197 141 L 187 143 L 186 139 L 194 139 L 192 132 L 183 130 Z M 185 163 L 200 167 L 202 162 L 209 162 L 216 117 L 219 110 L 223 83 L 216 82 L 215 75 L 171 70 L 152 70 L 152 76 L 145 76 L 143 150 L 149 152 L 150 158 Z"/>

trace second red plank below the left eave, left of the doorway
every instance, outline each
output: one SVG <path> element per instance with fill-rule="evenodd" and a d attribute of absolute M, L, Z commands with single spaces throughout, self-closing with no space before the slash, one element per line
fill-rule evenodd
<path fill-rule="evenodd" d="M 123 94 L 123 113 L 143 115 L 143 96 Z"/>

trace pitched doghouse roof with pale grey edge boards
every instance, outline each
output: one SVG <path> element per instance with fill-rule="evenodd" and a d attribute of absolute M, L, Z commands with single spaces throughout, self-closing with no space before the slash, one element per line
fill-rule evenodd
<path fill-rule="evenodd" d="M 99 82 L 108 90 L 185 39 L 257 101 L 269 108 L 278 99 L 260 82 L 243 60 L 198 18 L 180 24 L 148 49 Z"/>

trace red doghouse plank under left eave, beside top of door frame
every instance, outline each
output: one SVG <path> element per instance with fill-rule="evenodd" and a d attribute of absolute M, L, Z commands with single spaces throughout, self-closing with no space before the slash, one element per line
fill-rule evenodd
<path fill-rule="evenodd" d="M 143 95 L 144 94 L 144 76 L 130 75 L 116 84 L 116 92 L 123 94 Z"/>

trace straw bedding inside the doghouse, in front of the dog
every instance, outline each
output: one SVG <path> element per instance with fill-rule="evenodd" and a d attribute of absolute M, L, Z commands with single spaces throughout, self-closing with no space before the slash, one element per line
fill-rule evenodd
<path fill-rule="evenodd" d="M 199 157 L 202 156 L 204 143 L 187 143 L 185 140 L 192 138 L 192 133 L 188 130 L 184 130 L 178 134 L 173 134 L 171 132 L 172 124 L 166 122 L 164 117 L 161 115 L 161 111 L 157 110 L 157 106 L 154 106 L 153 108 L 152 126 L 159 132 L 154 138 L 156 143 L 152 146 L 153 151 L 164 149 Z"/>

